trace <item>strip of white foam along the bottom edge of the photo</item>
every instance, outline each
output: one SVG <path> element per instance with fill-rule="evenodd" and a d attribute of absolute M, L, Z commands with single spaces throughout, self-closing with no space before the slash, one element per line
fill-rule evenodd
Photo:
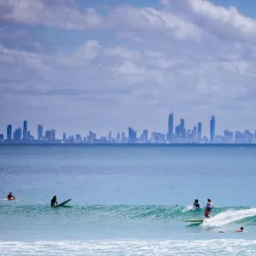
<path fill-rule="evenodd" d="M 255 255 L 256 241 L 217 239 L 207 241 L 7 241 L 0 242 L 1 255 Z"/>

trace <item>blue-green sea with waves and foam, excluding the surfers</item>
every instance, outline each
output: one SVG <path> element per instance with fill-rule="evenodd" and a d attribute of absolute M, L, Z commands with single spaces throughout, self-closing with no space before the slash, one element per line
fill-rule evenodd
<path fill-rule="evenodd" d="M 255 255 L 255 188 L 256 147 L 0 145 L 0 255 Z"/>

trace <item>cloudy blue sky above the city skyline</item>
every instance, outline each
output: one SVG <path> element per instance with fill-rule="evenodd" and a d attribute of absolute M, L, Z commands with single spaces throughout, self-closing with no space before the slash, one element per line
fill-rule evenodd
<path fill-rule="evenodd" d="M 256 129 L 256 1 L 0 0 L 0 133 Z M 253 11 L 254 10 L 254 11 Z"/>

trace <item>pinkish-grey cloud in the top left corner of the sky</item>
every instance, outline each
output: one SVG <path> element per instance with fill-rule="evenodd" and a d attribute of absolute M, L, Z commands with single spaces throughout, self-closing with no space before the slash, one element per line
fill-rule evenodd
<path fill-rule="evenodd" d="M 74 1 L 1 0 L 0 20 L 65 29 L 87 29 L 101 24 L 94 9 L 79 11 Z"/>

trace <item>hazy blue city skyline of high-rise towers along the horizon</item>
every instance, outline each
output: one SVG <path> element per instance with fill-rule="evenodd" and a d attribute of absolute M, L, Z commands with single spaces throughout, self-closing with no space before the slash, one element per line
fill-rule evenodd
<path fill-rule="evenodd" d="M 173 113 L 169 114 L 167 128 L 166 134 L 154 131 L 149 136 L 148 130 L 144 130 L 139 137 L 137 131 L 129 127 L 127 135 L 125 135 L 125 131 L 122 131 L 113 136 L 109 131 L 108 137 L 97 137 L 95 132 L 90 131 L 86 137 L 82 137 L 81 134 L 67 135 L 67 133 L 63 133 L 62 138 L 56 138 L 55 129 L 44 132 L 44 126 L 38 125 L 38 136 L 34 137 L 28 131 L 28 123 L 25 120 L 23 130 L 19 127 L 13 132 L 13 125 L 8 125 L 6 137 L 0 134 L 0 143 L 256 143 L 256 131 L 252 133 L 245 130 L 234 133 L 224 130 L 222 135 L 216 135 L 213 115 L 207 128 L 210 131 L 210 138 L 202 135 L 200 122 L 192 129 L 186 130 L 185 120 L 180 119 L 179 125 L 174 127 Z"/>

